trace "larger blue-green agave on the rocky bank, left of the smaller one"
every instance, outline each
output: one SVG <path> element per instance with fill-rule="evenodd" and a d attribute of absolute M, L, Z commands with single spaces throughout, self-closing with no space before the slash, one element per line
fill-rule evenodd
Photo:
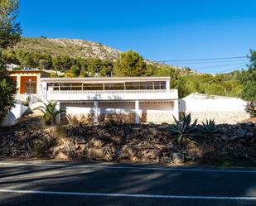
<path fill-rule="evenodd" d="M 187 114 L 182 113 L 180 120 L 176 120 L 176 117 L 173 117 L 175 124 L 172 124 L 169 129 L 172 134 L 176 135 L 177 142 L 183 144 L 184 138 L 191 139 L 192 136 L 196 135 L 196 122 L 197 119 L 191 124 L 191 113 Z"/>

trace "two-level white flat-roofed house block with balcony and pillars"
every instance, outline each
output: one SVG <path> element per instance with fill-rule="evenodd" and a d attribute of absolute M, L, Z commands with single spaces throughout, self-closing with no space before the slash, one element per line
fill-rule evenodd
<path fill-rule="evenodd" d="M 85 122 L 173 122 L 172 115 L 179 116 L 170 77 L 41 78 L 40 98 Z"/>

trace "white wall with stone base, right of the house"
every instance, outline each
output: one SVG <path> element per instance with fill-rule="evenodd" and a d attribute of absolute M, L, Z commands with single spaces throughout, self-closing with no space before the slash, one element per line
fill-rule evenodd
<path fill-rule="evenodd" d="M 241 98 L 183 98 L 179 100 L 179 111 L 191 113 L 192 119 L 205 122 L 215 119 L 217 123 L 235 123 L 249 118 L 245 112 L 246 102 Z"/>

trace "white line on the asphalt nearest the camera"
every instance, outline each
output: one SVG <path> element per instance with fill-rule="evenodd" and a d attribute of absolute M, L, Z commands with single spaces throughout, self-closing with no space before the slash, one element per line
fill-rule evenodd
<path fill-rule="evenodd" d="M 17 194 L 51 194 L 51 195 L 73 195 L 73 196 L 101 196 L 121 198 L 152 198 L 152 199 L 225 199 L 225 200 L 256 200 L 256 197 L 242 196 L 193 196 L 193 195 L 162 195 L 162 194 L 118 194 L 118 193 L 80 193 L 60 191 L 39 191 L 39 190 L 16 190 L 0 189 L 0 193 Z"/>

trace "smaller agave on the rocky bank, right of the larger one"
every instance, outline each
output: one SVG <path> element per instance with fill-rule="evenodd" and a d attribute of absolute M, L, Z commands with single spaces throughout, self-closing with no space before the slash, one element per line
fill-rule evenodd
<path fill-rule="evenodd" d="M 202 122 L 203 127 L 201 127 L 201 133 L 205 137 L 220 137 L 220 128 L 215 125 L 214 119 L 206 119 L 206 122 Z"/>

